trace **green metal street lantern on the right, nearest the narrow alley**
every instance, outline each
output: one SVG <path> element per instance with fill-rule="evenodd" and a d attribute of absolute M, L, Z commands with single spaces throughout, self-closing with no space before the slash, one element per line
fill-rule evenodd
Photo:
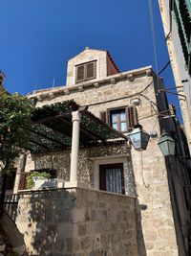
<path fill-rule="evenodd" d="M 159 149 L 164 156 L 175 154 L 175 140 L 163 131 L 159 139 Z"/>

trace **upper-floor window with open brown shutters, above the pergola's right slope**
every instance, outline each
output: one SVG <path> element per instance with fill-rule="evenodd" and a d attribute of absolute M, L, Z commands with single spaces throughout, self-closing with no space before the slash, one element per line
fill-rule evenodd
<path fill-rule="evenodd" d="M 100 113 L 100 119 L 103 123 L 121 132 L 127 132 L 138 124 L 138 114 L 135 105 L 107 109 Z"/>

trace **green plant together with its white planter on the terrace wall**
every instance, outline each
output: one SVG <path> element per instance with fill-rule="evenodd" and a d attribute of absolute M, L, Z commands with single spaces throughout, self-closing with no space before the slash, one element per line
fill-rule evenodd
<path fill-rule="evenodd" d="M 28 189 L 42 189 L 56 187 L 56 180 L 46 172 L 33 172 L 27 177 Z"/>

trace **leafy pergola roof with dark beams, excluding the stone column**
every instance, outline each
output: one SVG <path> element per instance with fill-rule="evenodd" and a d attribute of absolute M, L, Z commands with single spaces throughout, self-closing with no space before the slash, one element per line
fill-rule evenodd
<path fill-rule="evenodd" d="M 32 126 L 32 153 L 62 151 L 71 147 L 72 112 L 79 108 L 79 105 L 74 100 L 35 108 L 32 114 L 32 121 L 36 123 Z M 107 143 L 109 139 L 120 138 L 116 130 L 104 125 L 96 116 L 88 112 L 86 108 L 84 109 L 81 112 L 80 122 L 81 145 L 86 147 L 94 146 L 99 145 L 100 141 Z M 43 125 L 39 124 L 40 121 Z M 123 138 L 127 139 L 125 136 Z"/>

